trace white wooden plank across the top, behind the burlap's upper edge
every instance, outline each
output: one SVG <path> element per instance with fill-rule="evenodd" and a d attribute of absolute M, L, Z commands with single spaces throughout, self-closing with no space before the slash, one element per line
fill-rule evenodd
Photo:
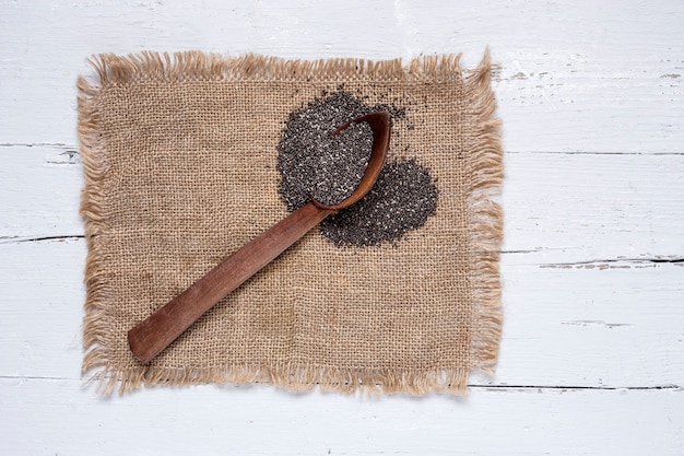
<path fill-rule="evenodd" d="M 97 52 L 463 51 L 472 67 L 490 45 L 502 65 L 495 90 L 506 150 L 681 154 L 684 3 L 657 3 L 9 2 L 0 14 L 0 143 L 73 147 L 75 79 L 93 74 L 85 58 Z M 351 38 L 355 31 L 363 39 Z"/>

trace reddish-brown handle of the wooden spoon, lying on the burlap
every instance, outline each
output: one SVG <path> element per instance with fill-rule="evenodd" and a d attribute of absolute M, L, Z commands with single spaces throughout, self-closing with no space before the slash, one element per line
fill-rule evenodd
<path fill-rule="evenodd" d="M 128 344 L 133 354 L 143 363 L 150 362 L 222 297 L 332 212 L 309 202 L 255 237 L 128 331 Z"/>

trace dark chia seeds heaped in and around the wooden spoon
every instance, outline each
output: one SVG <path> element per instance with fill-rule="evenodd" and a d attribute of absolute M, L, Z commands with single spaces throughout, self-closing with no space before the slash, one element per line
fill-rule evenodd
<path fill-rule="evenodd" d="M 290 211 L 311 197 L 333 204 L 356 189 L 368 163 L 373 132 L 361 122 L 332 136 L 339 126 L 376 110 L 405 116 L 403 108 L 369 106 L 342 89 L 326 95 L 290 115 L 278 147 L 280 192 Z M 321 234 L 338 246 L 377 245 L 422 226 L 436 206 L 437 189 L 426 168 L 414 161 L 386 163 L 368 195 L 323 220 Z"/>

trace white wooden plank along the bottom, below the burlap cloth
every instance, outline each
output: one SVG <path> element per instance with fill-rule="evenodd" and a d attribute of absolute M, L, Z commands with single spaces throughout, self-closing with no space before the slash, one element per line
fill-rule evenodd
<path fill-rule="evenodd" d="M 476 389 L 358 399 L 274 388 L 155 388 L 102 400 L 78 382 L 0 379 L 17 454 L 680 456 L 684 393 Z"/>

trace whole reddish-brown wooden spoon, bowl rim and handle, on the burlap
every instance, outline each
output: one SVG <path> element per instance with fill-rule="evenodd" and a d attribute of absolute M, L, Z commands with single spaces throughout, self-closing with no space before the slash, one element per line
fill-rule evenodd
<path fill-rule="evenodd" d="M 354 192 L 335 204 L 325 204 L 311 197 L 308 203 L 255 237 L 128 331 L 128 344 L 140 361 L 150 362 L 202 314 L 285 252 L 321 220 L 357 202 L 370 190 L 380 174 L 389 149 L 390 115 L 386 112 L 367 114 L 342 125 L 333 135 L 340 133 L 352 124 L 363 121 L 373 130 L 373 150 L 366 171 Z"/>

